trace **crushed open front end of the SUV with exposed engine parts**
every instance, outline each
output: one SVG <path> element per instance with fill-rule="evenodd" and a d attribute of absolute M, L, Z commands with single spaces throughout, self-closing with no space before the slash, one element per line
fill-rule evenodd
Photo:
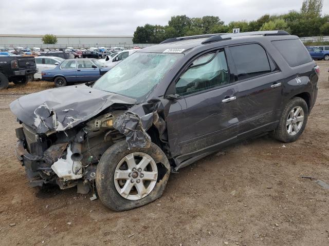
<path fill-rule="evenodd" d="M 115 111 L 116 114 L 124 111 Z M 115 115 L 116 115 L 115 114 Z M 77 185 L 78 179 L 93 181 L 105 150 L 125 136 L 113 128 L 112 113 L 96 117 L 81 127 L 49 135 L 38 134 L 24 123 L 16 129 L 17 157 L 21 157 L 31 186 L 57 183 L 61 189 Z M 85 182 L 86 183 L 86 182 Z"/>

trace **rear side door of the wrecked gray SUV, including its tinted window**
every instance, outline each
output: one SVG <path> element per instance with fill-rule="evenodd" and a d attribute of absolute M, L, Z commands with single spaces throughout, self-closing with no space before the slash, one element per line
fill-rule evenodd
<path fill-rule="evenodd" d="M 282 100 L 282 73 L 260 44 L 231 46 L 239 106 L 239 136 L 248 137 L 275 125 Z"/>

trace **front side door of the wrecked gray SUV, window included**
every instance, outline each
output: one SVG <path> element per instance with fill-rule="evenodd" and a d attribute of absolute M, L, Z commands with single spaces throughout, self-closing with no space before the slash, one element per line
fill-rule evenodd
<path fill-rule="evenodd" d="M 181 98 L 167 117 L 172 156 L 214 151 L 235 140 L 237 86 L 229 77 L 220 50 L 196 58 L 177 80 L 175 90 Z"/>

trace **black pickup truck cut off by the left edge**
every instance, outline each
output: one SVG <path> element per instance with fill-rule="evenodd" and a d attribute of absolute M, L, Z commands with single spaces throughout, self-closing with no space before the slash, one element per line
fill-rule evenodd
<path fill-rule="evenodd" d="M 0 90 L 15 85 L 25 85 L 38 70 L 32 56 L 0 56 Z"/>

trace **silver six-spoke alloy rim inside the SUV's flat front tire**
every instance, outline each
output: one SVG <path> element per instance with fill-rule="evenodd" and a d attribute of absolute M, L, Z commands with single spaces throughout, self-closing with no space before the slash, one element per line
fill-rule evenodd
<path fill-rule="evenodd" d="M 123 157 L 114 172 L 117 192 L 128 200 L 149 195 L 156 185 L 158 169 L 148 154 L 134 152 Z"/>

